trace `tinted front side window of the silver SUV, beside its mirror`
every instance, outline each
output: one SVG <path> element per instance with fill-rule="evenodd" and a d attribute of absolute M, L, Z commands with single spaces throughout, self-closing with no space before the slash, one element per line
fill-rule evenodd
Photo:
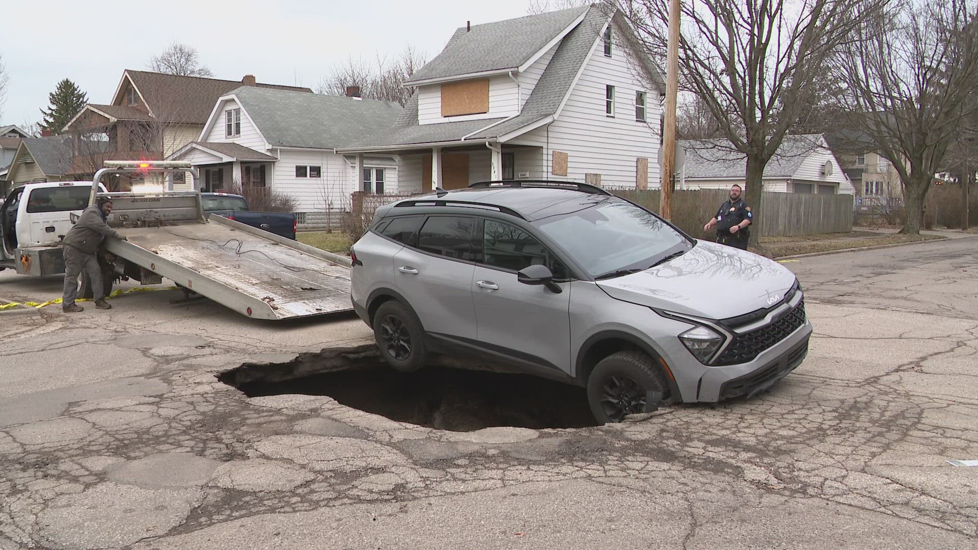
<path fill-rule="evenodd" d="M 567 279 L 567 270 L 539 241 L 522 229 L 501 221 L 487 219 L 483 228 L 482 250 L 485 263 L 510 271 L 530 265 L 546 265 L 556 279 Z"/>

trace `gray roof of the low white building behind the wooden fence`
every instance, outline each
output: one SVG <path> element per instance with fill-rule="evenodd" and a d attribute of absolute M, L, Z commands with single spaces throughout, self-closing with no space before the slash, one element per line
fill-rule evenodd
<path fill-rule="evenodd" d="M 747 158 L 733 150 L 726 139 L 686 140 L 679 145 L 686 151 L 683 167 L 687 179 L 742 178 L 747 174 Z M 764 167 L 764 177 L 791 177 L 801 163 L 822 148 L 822 134 L 784 136 L 778 153 Z"/>

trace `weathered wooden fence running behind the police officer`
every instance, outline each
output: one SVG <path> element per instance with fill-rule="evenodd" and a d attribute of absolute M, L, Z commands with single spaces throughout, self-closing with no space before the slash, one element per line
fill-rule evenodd
<path fill-rule="evenodd" d="M 611 193 L 659 211 L 657 189 L 608 189 Z M 762 237 L 797 237 L 821 233 L 847 233 L 853 228 L 852 195 L 802 195 L 762 193 L 761 206 L 754 205 L 761 223 Z M 696 238 L 710 238 L 703 225 L 728 199 L 726 189 L 673 192 L 672 222 Z"/>

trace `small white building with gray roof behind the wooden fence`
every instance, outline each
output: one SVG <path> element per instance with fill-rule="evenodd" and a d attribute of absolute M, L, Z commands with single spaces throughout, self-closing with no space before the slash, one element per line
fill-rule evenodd
<path fill-rule="evenodd" d="M 747 159 L 725 139 L 679 142 L 686 162 L 677 189 L 725 189 L 744 185 Z M 764 191 L 852 195 L 855 190 L 822 134 L 784 136 L 764 167 Z"/>

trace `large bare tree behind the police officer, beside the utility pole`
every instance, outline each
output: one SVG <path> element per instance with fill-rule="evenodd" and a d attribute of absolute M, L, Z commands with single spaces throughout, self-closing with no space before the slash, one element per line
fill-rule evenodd
<path fill-rule="evenodd" d="M 802 113 L 826 59 L 889 0 L 687 0 L 679 44 L 680 86 L 698 96 L 733 151 L 747 160 L 751 242 L 764 223 L 764 167 Z M 652 59 L 664 60 L 668 0 L 622 0 Z M 757 215 L 759 214 L 760 215 Z"/>

